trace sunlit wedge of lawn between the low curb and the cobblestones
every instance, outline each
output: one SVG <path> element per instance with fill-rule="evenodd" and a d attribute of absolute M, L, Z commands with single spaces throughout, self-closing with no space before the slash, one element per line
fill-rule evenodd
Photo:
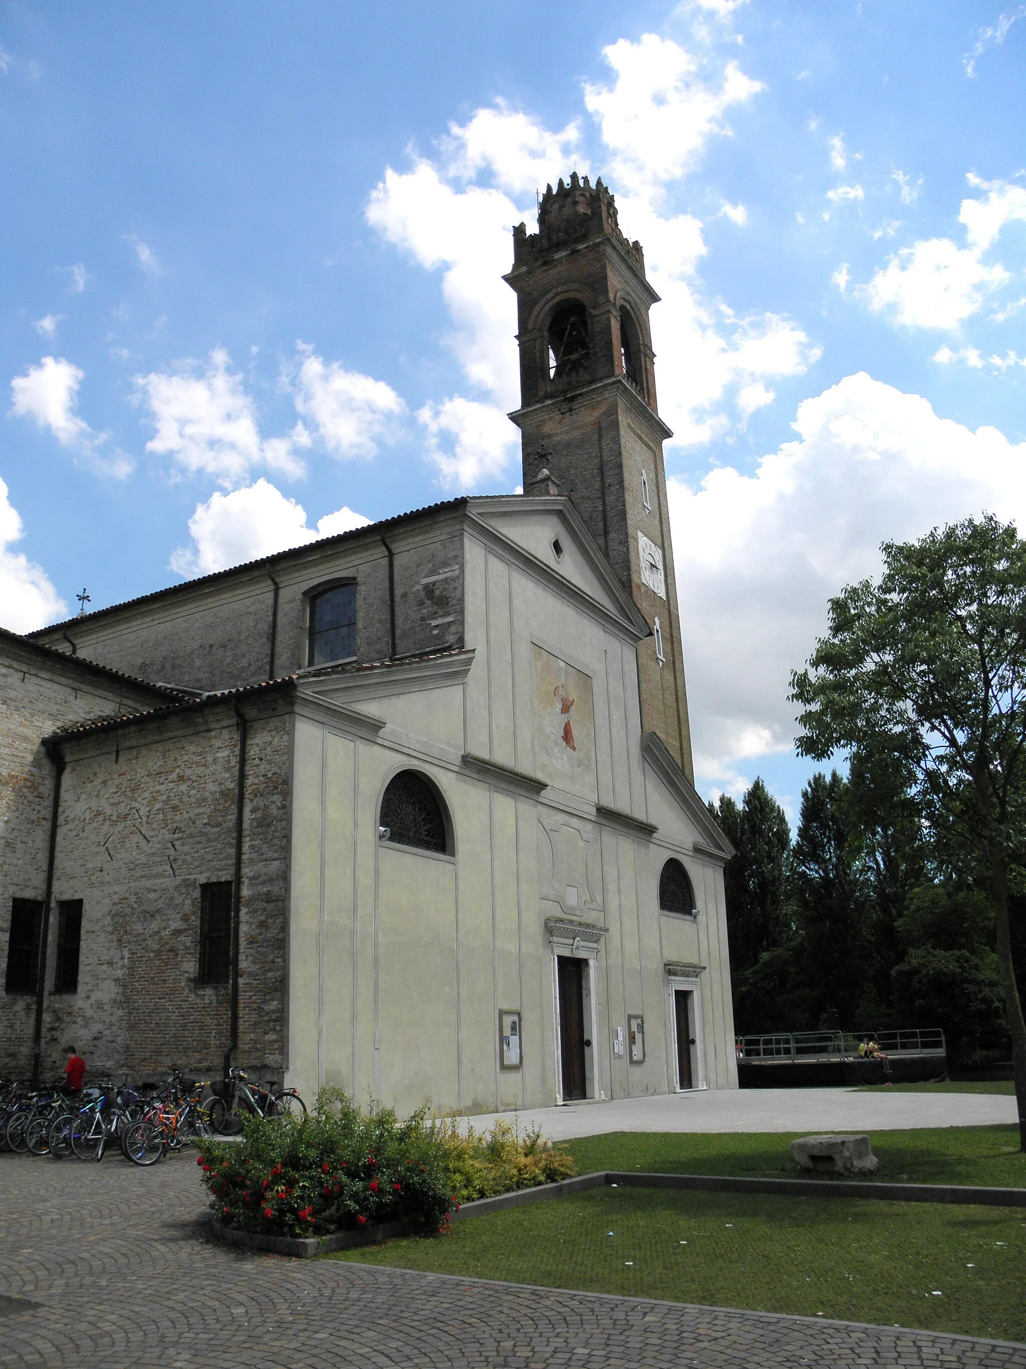
<path fill-rule="evenodd" d="M 327 1258 L 1026 1340 L 1021 1207 L 599 1188 Z"/>

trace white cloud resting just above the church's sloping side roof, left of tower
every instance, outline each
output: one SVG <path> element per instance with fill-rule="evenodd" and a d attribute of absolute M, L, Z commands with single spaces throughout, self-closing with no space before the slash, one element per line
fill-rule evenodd
<path fill-rule="evenodd" d="M 205 504 L 196 505 L 189 519 L 192 546 L 179 546 L 171 554 L 171 568 L 185 576 L 211 575 L 369 522 L 363 513 L 341 508 L 311 528 L 306 511 L 261 476 L 230 494 L 215 491 Z"/>

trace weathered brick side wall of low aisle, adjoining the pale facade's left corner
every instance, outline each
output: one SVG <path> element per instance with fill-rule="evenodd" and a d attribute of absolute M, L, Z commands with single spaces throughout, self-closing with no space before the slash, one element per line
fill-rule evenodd
<path fill-rule="evenodd" d="M 235 1062 L 280 1077 L 291 719 L 282 697 L 242 706 Z M 44 1073 L 66 1040 L 92 1079 L 220 1073 L 228 988 L 197 983 L 200 886 L 233 878 L 238 739 L 231 706 L 211 702 L 62 743 L 53 898 L 82 899 L 82 947 L 78 991 L 47 993 Z"/>

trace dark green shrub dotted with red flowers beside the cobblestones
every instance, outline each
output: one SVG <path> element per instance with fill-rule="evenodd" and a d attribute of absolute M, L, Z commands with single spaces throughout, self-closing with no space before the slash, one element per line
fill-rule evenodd
<path fill-rule="evenodd" d="M 440 1228 L 453 1202 L 443 1138 L 421 1109 L 353 1106 L 323 1088 L 311 1117 L 248 1117 L 234 1146 L 204 1142 L 197 1164 L 216 1218 L 272 1236 L 330 1235 L 386 1221 Z"/>

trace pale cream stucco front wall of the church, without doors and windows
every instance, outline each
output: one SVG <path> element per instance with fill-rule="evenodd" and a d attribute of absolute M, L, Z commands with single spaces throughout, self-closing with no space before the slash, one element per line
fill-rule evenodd
<path fill-rule="evenodd" d="M 528 513 L 525 526 L 538 548 L 555 531 L 566 538 L 555 515 L 549 527 Z M 516 538 L 516 527 L 503 530 Z M 568 583 L 603 593 L 572 548 L 561 565 Z M 465 643 L 475 654 L 464 683 L 439 675 L 431 687 L 421 674 L 404 693 L 399 668 L 387 682 L 368 682 L 364 694 L 339 695 L 384 721 L 376 737 L 341 715 L 332 720 L 330 709 L 297 720 L 290 1079 L 308 1092 L 338 1084 L 399 1112 L 555 1102 L 547 920 L 576 919 L 601 928 L 590 934 L 599 942 L 594 1091 L 637 1097 L 676 1087 L 666 962 L 703 967 L 696 1082 L 736 1086 L 721 862 L 695 852 L 702 834 L 643 760 L 631 630 L 610 626 L 613 605 L 588 613 L 558 580 L 532 574 L 487 535 L 468 534 L 465 576 Z M 535 645 L 591 680 L 590 798 L 479 764 L 539 771 Z M 451 857 L 379 841 L 382 793 L 406 767 L 445 795 Z M 655 836 L 646 821 L 659 827 Z M 670 854 L 688 868 L 698 920 L 659 913 L 659 871 Z M 523 1013 L 518 1071 L 499 1068 L 501 1009 Z M 627 1029 L 632 1013 L 646 1019 L 640 1064 L 613 1053 L 616 1028 Z"/>

